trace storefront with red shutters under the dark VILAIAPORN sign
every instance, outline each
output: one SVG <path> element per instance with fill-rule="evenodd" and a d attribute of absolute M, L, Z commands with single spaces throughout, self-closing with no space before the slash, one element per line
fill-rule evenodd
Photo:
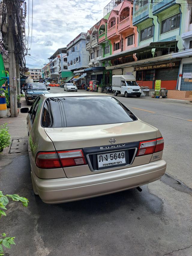
<path fill-rule="evenodd" d="M 179 61 L 161 62 L 134 67 L 139 86 L 155 89 L 155 80 L 161 80 L 161 88 L 176 90 L 179 76 Z"/>

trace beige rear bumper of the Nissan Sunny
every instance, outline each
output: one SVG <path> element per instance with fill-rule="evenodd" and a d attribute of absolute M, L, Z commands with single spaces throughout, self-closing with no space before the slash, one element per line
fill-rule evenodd
<path fill-rule="evenodd" d="M 73 178 L 39 179 L 32 170 L 35 191 L 45 203 L 64 203 L 135 188 L 161 178 L 161 159 L 140 166 Z"/>

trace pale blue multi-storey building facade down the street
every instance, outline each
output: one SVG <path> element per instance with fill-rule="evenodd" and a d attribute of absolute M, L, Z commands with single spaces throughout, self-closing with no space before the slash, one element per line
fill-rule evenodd
<path fill-rule="evenodd" d="M 67 44 L 67 70 L 75 71 L 88 67 L 89 53 L 86 50 L 86 33 L 80 33 Z"/>

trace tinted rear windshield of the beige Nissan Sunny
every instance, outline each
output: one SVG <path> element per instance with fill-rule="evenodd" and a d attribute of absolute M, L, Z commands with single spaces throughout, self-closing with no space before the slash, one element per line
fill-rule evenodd
<path fill-rule="evenodd" d="M 49 128 L 105 125 L 137 120 L 111 96 L 58 97 L 46 100 L 41 125 Z"/>

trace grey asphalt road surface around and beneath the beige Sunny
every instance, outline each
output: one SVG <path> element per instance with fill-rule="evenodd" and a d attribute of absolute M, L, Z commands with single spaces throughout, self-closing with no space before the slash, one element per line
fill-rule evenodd
<path fill-rule="evenodd" d="M 1 218 L 0 232 L 16 236 L 7 256 L 192 255 L 192 122 L 187 121 L 192 106 L 149 97 L 118 99 L 162 132 L 168 175 L 142 186 L 142 192 L 47 205 L 33 194 L 28 155 L 0 158 L 1 190 L 29 199 L 27 208 L 11 202 Z"/>

